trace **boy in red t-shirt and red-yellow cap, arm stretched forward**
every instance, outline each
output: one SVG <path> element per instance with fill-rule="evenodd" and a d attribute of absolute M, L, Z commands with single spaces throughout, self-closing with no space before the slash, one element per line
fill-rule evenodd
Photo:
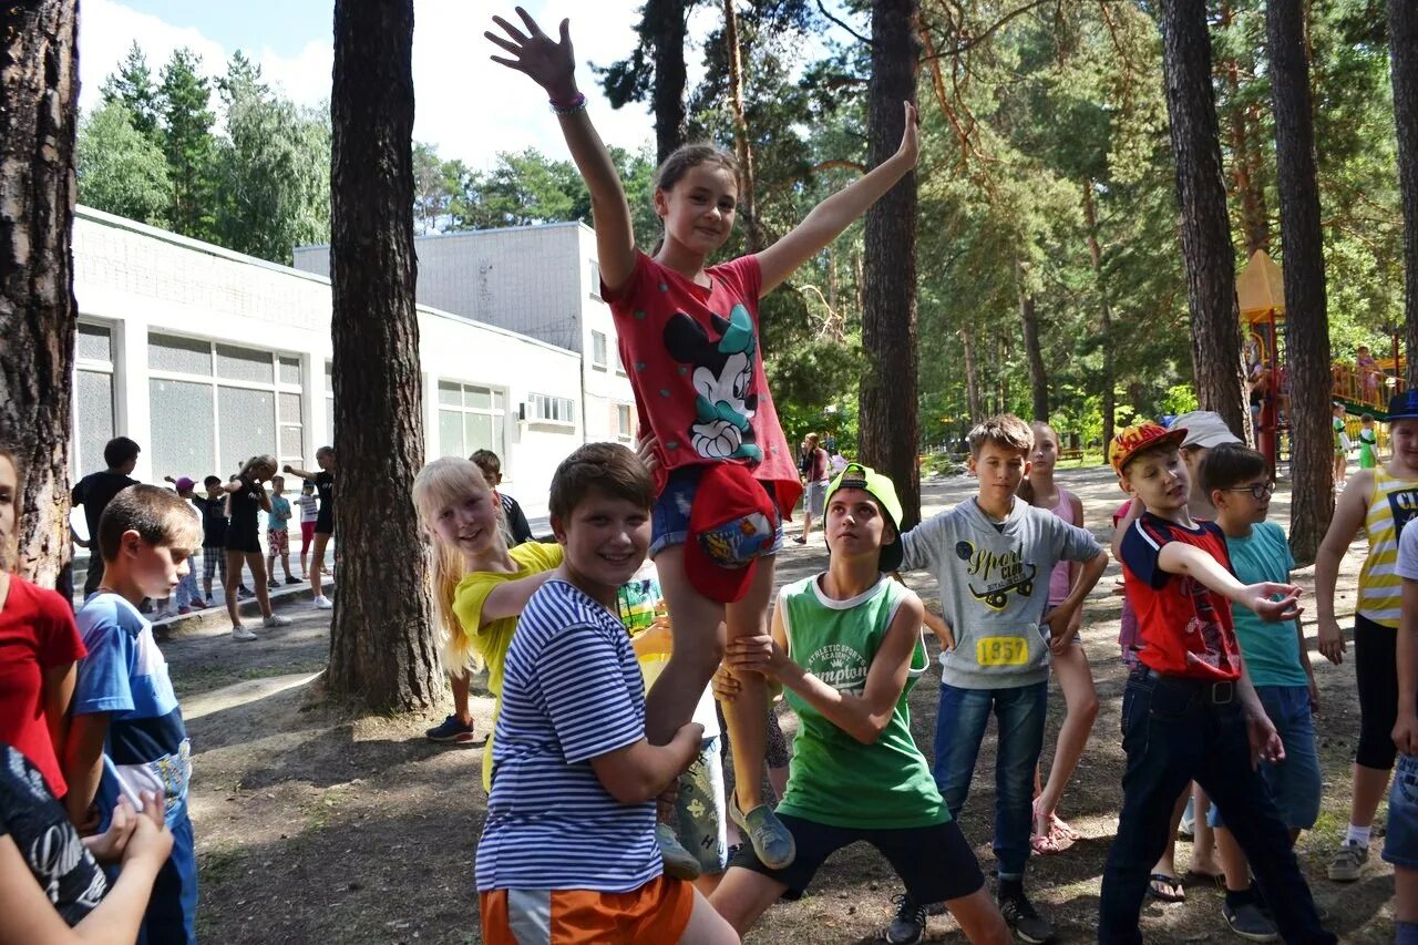
<path fill-rule="evenodd" d="M 1137 612 L 1139 665 L 1123 694 L 1123 810 L 1107 851 L 1098 941 L 1137 942 L 1147 873 L 1167 843 L 1177 796 L 1195 779 L 1221 810 L 1286 942 L 1337 942 L 1320 927 L 1290 836 L 1256 761 L 1285 746 L 1245 671 L 1231 603 L 1262 620 L 1293 620 L 1299 589 L 1242 585 L 1225 536 L 1187 511 L 1178 448 L 1185 430 L 1127 427 L 1109 447 L 1124 492 L 1146 507 L 1122 539 L 1123 580 Z M 1244 834 L 1244 836 L 1242 836 Z"/>

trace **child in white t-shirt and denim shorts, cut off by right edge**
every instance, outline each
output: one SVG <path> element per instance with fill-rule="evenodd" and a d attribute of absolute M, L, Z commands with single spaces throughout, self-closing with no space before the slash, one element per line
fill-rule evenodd
<path fill-rule="evenodd" d="M 1384 860 L 1394 864 L 1397 945 L 1418 945 L 1418 525 L 1398 536 L 1402 614 L 1398 619 L 1398 770 L 1388 793 Z"/>

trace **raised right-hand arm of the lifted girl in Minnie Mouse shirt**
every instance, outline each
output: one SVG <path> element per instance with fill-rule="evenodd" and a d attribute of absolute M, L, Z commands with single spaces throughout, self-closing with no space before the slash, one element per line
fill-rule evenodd
<path fill-rule="evenodd" d="M 861 180 L 838 190 L 822 203 L 813 207 L 803 223 L 791 233 L 759 253 L 759 270 L 763 284 L 759 297 L 764 297 L 793 275 L 797 267 L 821 253 L 838 234 L 851 226 L 852 220 L 866 213 L 891 190 L 898 180 L 910 173 L 920 153 L 920 138 L 916 129 L 916 106 L 905 102 L 906 131 L 900 136 L 896 153 L 872 169 Z"/>

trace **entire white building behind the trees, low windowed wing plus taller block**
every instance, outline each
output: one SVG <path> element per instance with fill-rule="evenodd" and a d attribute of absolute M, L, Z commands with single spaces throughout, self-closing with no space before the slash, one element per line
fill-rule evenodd
<path fill-rule="evenodd" d="M 628 440 L 634 417 L 610 311 L 587 289 L 598 284 L 587 234 L 579 224 L 508 231 L 510 248 L 496 258 L 519 260 L 522 278 L 484 278 L 472 311 L 418 306 L 425 455 L 492 448 L 503 488 L 533 519 L 546 515 L 557 463 L 587 440 Z M 486 247 L 498 234 L 479 236 Z M 442 241 L 421 240 L 421 257 L 431 244 Z M 421 268 L 440 271 L 423 258 Z M 425 280 L 437 282 L 421 275 L 420 298 Z M 104 468 L 115 434 L 143 448 L 135 471 L 143 481 L 228 475 L 257 453 L 313 467 L 315 450 L 332 441 L 323 275 L 79 207 L 74 294 L 75 474 Z M 532 309 L 545 316 L 536 336 L 498 326 Z M 562 336 L 552 333 L 557 324 Z M 573 348 L 577 339 L 584 348 Z"/>

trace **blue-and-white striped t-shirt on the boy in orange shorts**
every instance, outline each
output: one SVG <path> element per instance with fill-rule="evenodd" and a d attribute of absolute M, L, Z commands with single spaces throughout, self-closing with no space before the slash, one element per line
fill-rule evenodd
<path fill-rule="evenodd" d="M 590 763 L 645 735 L 625 627 L 573 585 L 547 580 L 505 665 L 478 891 L 628 892 L 658 877 L 655 802 L 620 803 Z"/>

